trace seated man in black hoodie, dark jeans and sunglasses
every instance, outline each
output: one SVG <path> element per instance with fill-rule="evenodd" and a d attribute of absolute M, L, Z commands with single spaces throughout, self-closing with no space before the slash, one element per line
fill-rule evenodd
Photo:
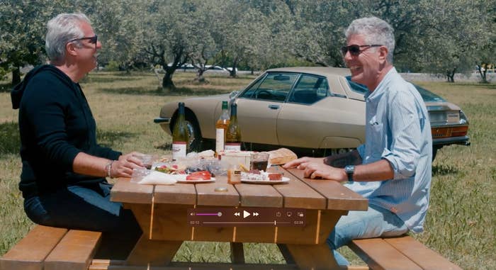
<path fill-rule="evenodd" d="M 130 177 L 143 164 L 96 142 L 96 123 L 79 81 L 96 67 L 101 43 L 89 19 L 62 13 L 47 23 L 50 64 L 11 92 L 19 108 L 19 189 L 34 223 L 103 232 L 97 257 L 125 259 L 141 235 L 130 210 L 110 201 L 106 177 Z"/>

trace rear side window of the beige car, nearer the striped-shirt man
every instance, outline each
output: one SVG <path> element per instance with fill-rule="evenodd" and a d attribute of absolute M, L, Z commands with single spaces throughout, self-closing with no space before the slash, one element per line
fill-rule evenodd
<path fill-rule="evenodd" d="M 312 104 L 329 96 L 329 84 L 325 77 L 303 74 L 291 93 L 289 102 Z"/>

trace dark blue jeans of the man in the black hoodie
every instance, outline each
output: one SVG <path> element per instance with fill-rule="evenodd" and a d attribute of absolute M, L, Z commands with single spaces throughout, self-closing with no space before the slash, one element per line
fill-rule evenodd
<path fill-rule="evenodd" d="M 67 186 L 24 200 L 24 211 L 40 225 L 103 232 L 97 258 L 125 259 L 142 234 L 133 213 L 110 201 L 111 185 Z"/>

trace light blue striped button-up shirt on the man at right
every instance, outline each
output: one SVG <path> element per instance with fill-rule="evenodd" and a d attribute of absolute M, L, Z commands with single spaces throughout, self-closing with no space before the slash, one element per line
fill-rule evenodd
<path fill-rule="evenodd" d="M 432 178 L 431 125 L 422 96 L 393 67 L 365 99 L 366 142 L 359 154 L 363 164 L 387 159 L 395 176 L 346 186 L 422 232 Z"/>

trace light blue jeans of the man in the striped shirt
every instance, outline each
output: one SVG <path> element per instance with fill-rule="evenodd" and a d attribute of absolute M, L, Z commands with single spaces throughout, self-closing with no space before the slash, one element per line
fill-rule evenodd
<path fill-rule="evenodd" d="M 336 249 L 348 244 L 351 240 L 373 237 L 393 237 L 408 232 L 408 227 L 398 215 L 369 204 L 366 211 L 349 211 L 343 215 L 327 238 L 327 244 L 334 252 L 338 264 L 348 265 Z"/>

